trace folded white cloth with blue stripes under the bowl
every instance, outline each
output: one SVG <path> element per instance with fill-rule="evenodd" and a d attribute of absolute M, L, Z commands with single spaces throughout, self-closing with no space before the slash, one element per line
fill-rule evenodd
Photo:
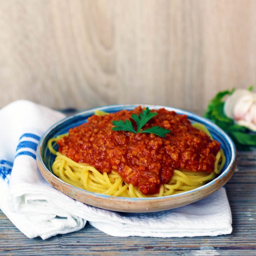
<path fill-rule="evenodd" d="M 43 239 L 82 229 L 86 222 L 111 236 L 194 237 L 232 231 L 226 191 L 196 203 L 154 213 L 98 209 L 59 192 L 36 164 L 40 136 L 64 114 L 16 101 L 0 110 L 0 208 L 27 237 Z M 10 175 L 11 174 L 11 175 Z"/>

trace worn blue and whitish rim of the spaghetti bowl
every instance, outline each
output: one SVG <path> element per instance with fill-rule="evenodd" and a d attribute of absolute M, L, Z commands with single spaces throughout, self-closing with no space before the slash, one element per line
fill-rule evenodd
<path fill-rule="evenodd" d="M 193 190 L 189 190 L 189 191 L 185 191 L 185 192 L 181 192 L 178 194 L 173 194 L 173 195 L 169 195 L 169 196 L 162 196 L 162 197 L 146 197 L 146 198 L 130 198 L 130 197 L 114 197 L 114 196 L 108 196 L 108 195 L 104 195 L 104 194 L 99 194 L 99 193 L 95 193 L 95 192 L 91 192 L 91 191 L 87 191 L 84 190 L 82 188 L 78 188 L 75 187 L 73 185 L 70 185 L 68 183 L 66 183 L 65 181 L 59 179 L 57 176 L 55 176 L 46 166 L 45 163 L 43 161 L 43 158 L 41 156 L 41 151 L 40 148 L 46 138 L 46 136 L 51 132 L 51 130 L 56 129 L 60 124 L 73 119 L 74 117 L 77 116 L 81 116 L 81 115 L 87 115 L 87 114 L 91 114 L 92 111 L 94 112 L 95 110 L 101 110 L 101 111 L 108 111 L 111 108 L 122 108 L 122 109 L 126 109 L 126 108 L 135 108 L 135 107 L 149 107 L 149 109 L 159 109 L 159 108 L 165 108 L 168 111 L 175 111 L 178 114 L 184 114 L 187 115 L 188 119 L 190 119 L 190 116 L 195 119 L 197 119 L 197 121 L 199 121 L 200 123 L 206 124 L 207 126 L 210 126 L 211 128 L 213 128 L 216 133 L 218 133 L 219 135 L 222 135 L 223 139 L 227 142 L 227 144 L 230 146 L 231 149 L 231 159 L 230 162 L 228 164 L 228 166 L 213 180 L 209 181 L 208 183 L 198 187 L 198 188 L 194 188 Z M 121 109 L 120 109 L 121 110 Z M 117 110 L 117 111 L 120 111 Z M 93 113 L 92 113 L 93 115 Z M 170 198 L 178 198 L 180 196 L 185 196 L 187 194 L 190 193 L 196 193 L 200 190 L 203 190 L 204 188 L 210 187 L 211 185 L 213 185 L 217 180 L 220 180 L 222 178 L 224 178 L 230 171 L 231 171 L 231 167 L 234 164 L 234 162 L 236 161 L 236 148 L 235 145 L 233 143 L 233 141 L 231 140 L 231 138 L 228 136 L 228 134 L 226 134 L 226 132 L 224 132 L 221 128 L 219 128 L 215 123 L 213 123 L 212 121 L 210 121 L 209 119 L 206 119 L 205 117 L 201 117 L 200 115 L 197 115 L 191 111 L 187 111 L 187 110 L 183 110 L 183 109 L 179 109 L 179 108 L 174 108 L 174 107 L 168 107 L 168 106 L 163 106 L 163 105 L 152 105 L 152 104 L 114 104 L 114 105 L 105 105 L 105 106 L 101 106 L 101 107 L 96 107 L 96 108 L 90 108 L 84 111 L 80 111 L 76 114 L 70 115 L 70 116 L 66 116 L 63 119 L 59 120 L 58 122 L 56 122 L 55 124 L 53 124 L 49 129 L 46 130 L 46 132 L 41 136 L 39 143 L 38 143 L 38 148 L 37 148 L 37 161 L 42 164 L 45 168 L 45 170 L 47 170 L 54 178 L 58 179 L 61 183 L 64 183 L 68 186 L 71 186 L 73 188 L 76 188 L 77 190 L 81 190 L 84 193 L 89 193 L 94 195 L 95 197 L 101 197 L 101 198 L 111 198 L 113 200 L 117 200 L 117 199 L 124 199 L 124 200 L 128 200 L 128 201 L 147 201 L 147 200 L 161 200 L 161 199 L 170 199 Z M 227 182 L 227 181 L 226 181 Z M 222 187 L 222 186 L 220 186 Z"/>

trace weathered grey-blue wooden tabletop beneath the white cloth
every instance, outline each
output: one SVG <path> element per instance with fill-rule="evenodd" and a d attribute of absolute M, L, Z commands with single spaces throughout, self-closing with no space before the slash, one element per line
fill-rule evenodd
<path fill-rule="evenodd" d="M 0 255 L 256 255 L 256 150 L 238 152 L 226 184 L 233 232 L 217 237 L 111 237 L 84 229 L 47 240 L 28 239 L 0 211 Z"/>

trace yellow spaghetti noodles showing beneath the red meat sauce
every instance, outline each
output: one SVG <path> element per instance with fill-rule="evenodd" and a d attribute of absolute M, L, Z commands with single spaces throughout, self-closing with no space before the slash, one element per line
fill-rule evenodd
<path fill-rule="evenodd" d="M 210 137 L 211 134 L 203 124 L 194 123 L 194 127 L 203 130 Z M 48 148 L 56 159 L 52 165 L 53 173 L 73 186 L 82 188 L 87 191 L 119 197 L 161 197 L 192 190 L 204 185 L 207 181 L 212 180 L 220 173 L 225 165 L 225 155 L 222 149 L 217 153 L 214 171 L 192 172 L 174 169 L 171 180 L 161 185 L 159 193 L 153 195 L 144 195 L 132 184 L 124 183 L 119 173 L 111 171 L 110 173 L 101 173 L 93 166 L 83 163 L 77 163 L 65 155 L 56 152 L 52 143 L 68 134 L 59 135 L 48 141 Z"/>

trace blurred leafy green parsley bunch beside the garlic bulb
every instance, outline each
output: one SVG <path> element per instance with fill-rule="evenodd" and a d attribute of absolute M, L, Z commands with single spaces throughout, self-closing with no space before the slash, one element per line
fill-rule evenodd
<path fill-rule="evenodd" d="M 249 87 L 249 90 L 251 90 L 251 87 Z M 249 129 L 236 124 L 233 119 L 227 117 L 224 113 L 224 101 L 222 99 L 226 95 L 231 95 L 233 91 L 234 89 L 218 92 L 210 101 L 204 116 L 228 133 L 238 150 L 247 151 L 250 150 L 250 147 L 256 147 L 256 134 L 249 133 Z"/>

